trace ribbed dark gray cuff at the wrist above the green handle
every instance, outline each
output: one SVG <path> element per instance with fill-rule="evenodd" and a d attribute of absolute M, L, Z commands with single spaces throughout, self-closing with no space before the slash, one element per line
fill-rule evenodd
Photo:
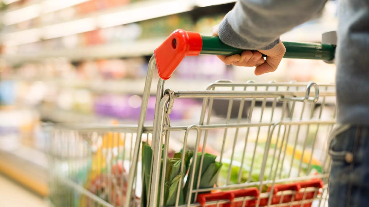
<path fill-rule="evenodd" d="M 268 45 L 260 45 L 260 42 L 248 41 L 245 38 L 239 36 L 231 25 L 228 23 L 227 16 L 221 21 L 218 31 L 219 38 L 222 42 L 235 48 L 248 49 L 248 50 L 269 50 L 280 42 L 280 39 L 276 39 Z"/>

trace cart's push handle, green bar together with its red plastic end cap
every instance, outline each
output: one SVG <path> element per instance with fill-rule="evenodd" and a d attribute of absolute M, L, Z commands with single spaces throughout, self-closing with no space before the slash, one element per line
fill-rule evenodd
<path fill-rule="evenodd" d="M 286 47 L 284 58 L 317 59 L 325 62 L 334 59 L 334 45 L 302 42 L 283 42 L 283 44 Z M 201 36 L 197 32 L 177 29 L 155 49 L 154 53 L 159 76 L 167 80 L 186 56 L 234 55 L 242 52 L 244 49 L 226 45 L 217 36 Z"/>

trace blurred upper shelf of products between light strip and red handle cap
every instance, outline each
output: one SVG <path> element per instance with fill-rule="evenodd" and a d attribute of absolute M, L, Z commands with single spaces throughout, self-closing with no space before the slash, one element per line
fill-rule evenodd
<path fill-rule="evenodd" d="M 40 42 L 5 46 L 3 57 L 14 64 L 40 61 L 47 57 L 83 60 L 151 55 L 166 36 L 177 28 L 194 30 L 191 17 L 187 14 L 170 15 Z"/>

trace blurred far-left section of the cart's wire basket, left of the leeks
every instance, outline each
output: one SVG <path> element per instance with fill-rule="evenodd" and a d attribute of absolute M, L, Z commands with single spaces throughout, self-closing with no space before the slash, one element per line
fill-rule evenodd
<path fill-rule="evenodd" d="M 123 206 L 141 197 L 141 176 L 127 196 L 137 127 L 57 127 L 48 143 L 50 200 L 54 206 Z M 143 140 L 151 134 L 142 134 Z M 138 171 L 141 166 L 138 165 Z"/>

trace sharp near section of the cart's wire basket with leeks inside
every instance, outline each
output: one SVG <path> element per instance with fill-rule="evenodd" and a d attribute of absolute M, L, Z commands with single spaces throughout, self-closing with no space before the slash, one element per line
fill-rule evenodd
<path fill-rule="evenodd" d="M 202 99 L 199 124 L 170 126 L 176 98 Z M 146 205 L 325 205 L 334 85 L 218 81 L 207 91 L 167 90 L 159 107 Z M 182 145 L 171 157 L 173 140 Z"/>

